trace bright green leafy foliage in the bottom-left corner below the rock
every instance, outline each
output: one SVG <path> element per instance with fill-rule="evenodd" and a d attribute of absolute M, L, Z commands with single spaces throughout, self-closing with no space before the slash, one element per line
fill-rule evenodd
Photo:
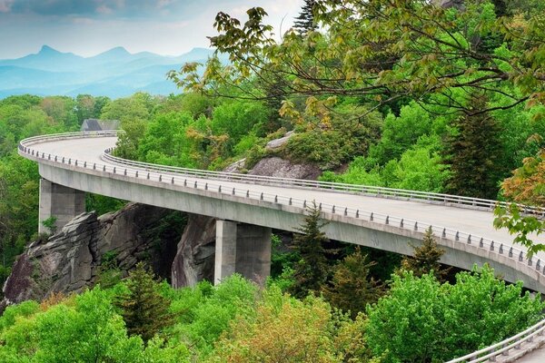
<path fill-rule="evenodd" d="M 128 338 L 111 294 L 103 289 L 85 291 L 45 310 L 36 308 L 30 301 L 6 309 L 0 332 L 2 361 L 188 361 L 183 346 L 164 347 L 154 338 L 144 348 L 141 338 Z"/>

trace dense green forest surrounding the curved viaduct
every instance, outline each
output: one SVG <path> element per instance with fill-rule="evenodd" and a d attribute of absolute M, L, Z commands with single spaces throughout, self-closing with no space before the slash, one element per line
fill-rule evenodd
<path fill-rule="evenodd" d="M 307 0 L 282 38 L 266 9 L 219 13 L 227 54 L 184 64 L 183 93 L 0 100 L 2 280 L 36 235 L 39 175 L 21 139 L 120 120 L 115 152 L 143 162 L 247 172 L 268 156 L 310 163 L 323 181 L 545 206 L 545 5 L 540 0 Z M 267 142 L 293 131 L 288 142 Z M 124 204 L 89 195 L 87 209 Z M 528 237 L 545 221 L 517 207 L 497 227 Z M 81 294 L 8 307 L 5 362 L 440 362 L 542 319 L 540 296 L 488 266 L 439 263 L 428 233 L 414 257 L 327 240 L 312 208 L 292 248 L 273 238 L 272 276 L 172 289 L 139 264 L 104 263 Z M 77 337 L 74 339 L 74 337 Z"/>

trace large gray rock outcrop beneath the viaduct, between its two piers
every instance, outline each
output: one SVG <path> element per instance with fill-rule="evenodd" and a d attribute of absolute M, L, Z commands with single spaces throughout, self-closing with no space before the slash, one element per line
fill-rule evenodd
<path fill-rule="evenodd" d="M 170 272 L 173 251 L 169 257 L 168 253 L 157 250 L 157 240 L 146 233 L 171 212 L 131 203 L 122 211 L 100 218 L 94 212 L 80 214 L 68 222 L 62 231 L 48 240 L 33 242 L 19 256 L 12 274 L 5 281 L 5 302 L 40 300 L 52 292 L 69 293 L 92 286 L 106 252 L 115 253 L 120 269 L 125 272 L 139 260 L 151 262 L 155 272 L 160 275 L 163 265 Z M 179 235 L 160 243 L 166 247 L 170 244 L 175 250 L 178 238 Z"/>

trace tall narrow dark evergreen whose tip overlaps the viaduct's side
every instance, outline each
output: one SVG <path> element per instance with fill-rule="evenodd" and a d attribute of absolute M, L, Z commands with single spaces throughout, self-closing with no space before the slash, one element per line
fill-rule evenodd
<path fill-rule="evenodd" d="M 304 298 L 309 292 L 322 289 L 330 272 L 326 255 L 335 253 L 334 250 L 326 248 L 330 240 L 321 231 L 326 223 L 321 221 L 320 210 L 315 202 L 312 202 L 312 207 L 307 212 L 304 224 L 298 229 L 301 234 L 296 234 L 293 238 L 293 249 L 301 257 L 295 263 L 294 282 L 289 289 L 296 298 Z"/>

